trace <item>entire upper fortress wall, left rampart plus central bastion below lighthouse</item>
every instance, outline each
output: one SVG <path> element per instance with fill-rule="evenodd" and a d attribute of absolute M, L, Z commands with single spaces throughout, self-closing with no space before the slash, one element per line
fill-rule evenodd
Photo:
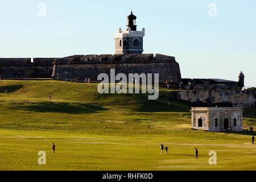
<path fill-rule="evenodd" d="M 159 73 L 159 80 L 181 81 L 175 57 L 156 54 L 73 55 L 63 58 L 0 58 L 2 78 L 52 78 L 65 80 L 89 77 L 97 81 L 100 73 Z"/>

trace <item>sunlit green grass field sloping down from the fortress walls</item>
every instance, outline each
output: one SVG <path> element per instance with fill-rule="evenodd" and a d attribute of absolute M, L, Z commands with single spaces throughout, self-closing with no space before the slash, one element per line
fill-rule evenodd
<path fill-rule="evenodd" d="M 252 133 L 192 130 L 189 105 L 168 100 L 168 92 L 160 88 L 152 101 L 147 94 L 99 94 L 97 84 L 1 80 L 0 169 L 256 169 Z M 243 127 L 255 129 L 256 108 L 243 114 Z M 160 155 L 160 143 L 168 155 Z M 217 165 L 208 163 L 212 150 Z M 38 151 L 46 151 L 46 165 L 38 164 Z"/>

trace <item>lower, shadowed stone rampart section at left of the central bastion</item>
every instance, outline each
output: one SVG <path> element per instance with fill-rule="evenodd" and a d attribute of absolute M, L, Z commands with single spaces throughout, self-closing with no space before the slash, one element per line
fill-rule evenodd
<path fill-rule="evenodd" d="M 50 78 L 56 58 L 0 58 L 3 78 Z"/>

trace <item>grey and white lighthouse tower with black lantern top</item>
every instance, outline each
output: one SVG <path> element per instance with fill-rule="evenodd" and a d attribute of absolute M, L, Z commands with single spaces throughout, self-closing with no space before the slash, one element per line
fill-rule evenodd
<path fill-rule="evenodd" d="M 142 28 L 142 31 L 137 31 L 136 19 L 137 17 L 131 11 L 131 14 L 127 16 L 126 30 L 122 31 L 119 28 L 118 34 L 114 35 L 115 54 L 141 54 L 143 52 L 145 28 Z"/>

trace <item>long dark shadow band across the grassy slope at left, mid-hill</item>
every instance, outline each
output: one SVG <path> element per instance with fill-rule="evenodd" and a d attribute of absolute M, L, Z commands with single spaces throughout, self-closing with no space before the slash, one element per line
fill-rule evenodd
<path fill-rule="evenodd" d="M 73 102 L 23 102 L 16 104 L 13 109 L 29 110 L 40 113 L 69 113 L 69 114 L 91 114 L 98 111 L 108 110 L 100 106 L 80 104 Z"/>

